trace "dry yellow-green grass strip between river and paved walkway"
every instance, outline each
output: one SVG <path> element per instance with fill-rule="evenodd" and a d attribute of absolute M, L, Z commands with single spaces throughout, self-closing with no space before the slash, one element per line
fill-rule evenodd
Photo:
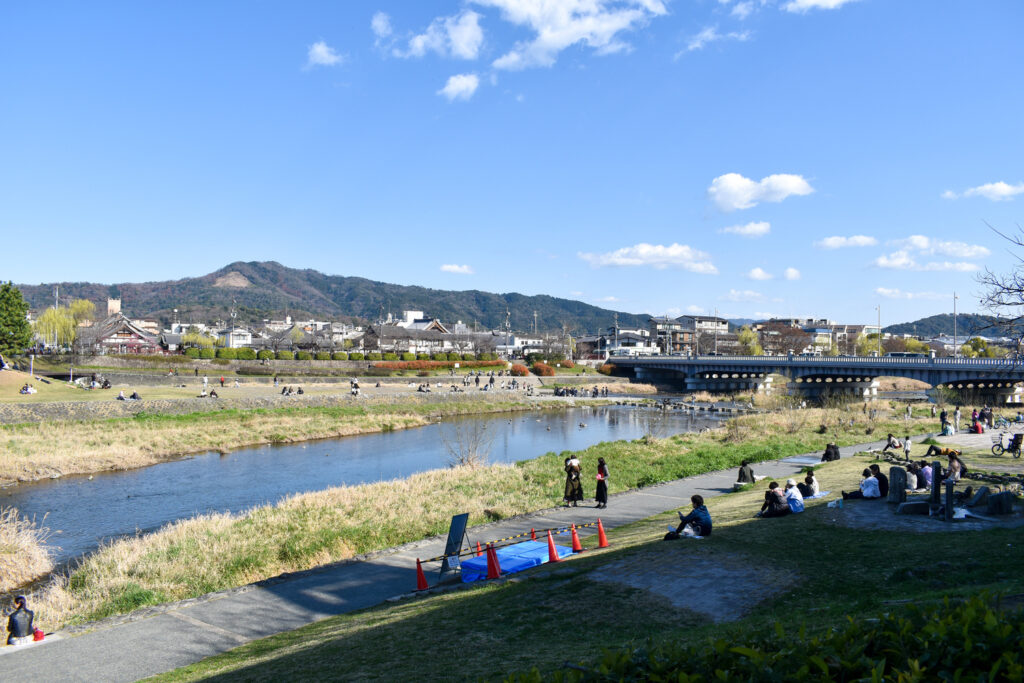
<path fill-rule="evenodd" d="M 867 429 L 906 424 L 849 426 L 833 413 L 746 416 L 715 432 L 601 443 L 580 456 L 588 472 L 605 458 L 614 493 L 735 467 L 742 459 L 821 450 L 834 433 L 840 443 L 854 443 L 871 438 Z M 910 424 L 914 431 L 925 426 Z M 817 433 L 822 425 L 827 434 Z M 425 472 L 294 496 L 241 515 L 183 520 L 87 557 L 68 582 L 36 600 L 37 618 L 55 628 L 347 559 L 441 533 L 455 513 L 468 512 L 478 524 L 550 507 L 562 495 L 563 457 L 549 453 L 514 466 Z M 593 495 L 592 487 L 587 493 Z"/>

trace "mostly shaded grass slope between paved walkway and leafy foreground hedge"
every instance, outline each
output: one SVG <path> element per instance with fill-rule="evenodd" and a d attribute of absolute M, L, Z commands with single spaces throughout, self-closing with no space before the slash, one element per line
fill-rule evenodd
<path fill-rule="evenodd" d="M 817 468 L 817 475 L 833 492 L 855 488 L 867 462 L 844 459 Z M 532 668 L 539 673 L 531 680 L 557 680 L 552 673 L 565 672 L 566 661 L 596 671 L 606 648 L 621 652 L 616 660 L 631 651 L 643 659 L 650 644 L 707 652 L 719 642 L 728 655 L 732 647 L 759 647 L 779 628 L 784 636 L 776 649 L 787 648 L 794 661 L 820 654 L 837 673 L 844 663 L 856 661 L 856 648 L 869 639 L 853 639 L 847 649 L 831 652 L 819 651 L 814 639 L 844 629 L 848 617 L 870 625 L 907 603 L 941 609 L 946 598 L 1024 590 L 1016 570 L 1024 561 L 1019 527 L 935 530 L 930 527 L 941 522 L 916 518 L 910 520 L 921 525 L 914 529 L 894 525 L 891 506 L 884 503 L 850 502 L 838 510 L 824 500 L 808 501 L 801 515 L 753 519 L 762 493 L 759 487 L 709 501 L 715 532 L 700 542 L 663 542 L 666 525 L 677 519 L 674 513 L 656 515 L 612 530 L 609 549 L 539 567 L 521 583 L 487 582 L 332 617 L 151 680 L 477 680 Z M 851 521 L 858 509 L 873 509 L 877 516 L 858 525 Z M 626 579 L 638 572 L 649 578 L 640 582 L 646 590 Z M 890 666 L 903 666 L 900 643 L 916 643 L 919 636 L 941 642 L 947 629 L 955 634 L 949 641 L 956 654 L 922 657 L 922 669 L 932 675 L 914 679 L 939 680 L 936 668 L 964 666 L 964 639 L 982 634 L 936 620 L 930 630 L 877 644 L 893 648 L 887 650 Z M 416 646 L 396 651 L 389 643 Z M 999 654 L 979 656 L 988 667 Z M 743 655 L 734 656 L 739 661 Z M 452 663 L 458 663 L 454 672 Z M 620 680 L 627 671 L 607 679 Z M 676 680 L 668 672 L 663 676 Z M 829 678 L 806 673 L 806 680 Z"/>

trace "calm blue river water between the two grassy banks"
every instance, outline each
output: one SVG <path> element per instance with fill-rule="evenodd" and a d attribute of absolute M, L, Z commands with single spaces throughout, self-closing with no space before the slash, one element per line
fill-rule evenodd
<path fill-rule="evenodd" d="M 490 462 L 529 460 L 554 451 L 577 451 L 639 438 L 656 423 L 658 435 L 712 426 L 692 413 L 618 405 L 546 413 L 461 418 L 481 422 Z M 51 531 L 58 563 L 94 550 L 102 541 L 152 531 L 167 522 L 207 512 L 240 512 L 291 494 L 409 476 L 446 467 L 452 422 L 380 434 L 288 445 L 210 453 L 127 472 L 20 484 L 0 489 L 0 505 L 15 507 Z M 581 426 L 585 424 L 586 426 Z M 45 518 L 45 519 L 44 519 Z"/>

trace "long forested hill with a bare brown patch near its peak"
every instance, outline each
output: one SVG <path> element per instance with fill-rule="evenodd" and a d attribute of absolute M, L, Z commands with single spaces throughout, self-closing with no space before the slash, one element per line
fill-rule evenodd
<path fill-rule="evenodd" d="M 505 310 L 512 329 L 554 331 L 569 326 L 574 334 L 603 331 L 612 325 L 614 311 L 570 299 L 522 294 L 493 294 L 432 290 L 378 283 L 364 278 L 327 275 L 316 270 L 288 268 L 274 261 L 236 262 L 202 278 L 162 283 L 58 283 L 60 298 L 89 299 L 105 311 L 108 297 L 120 297 L 122 309 L 133 317 L 155 317 L 169 323 L 177 308 L 183 322 L 226 319 L 232 305 L 240 322 L 315 315 L 333 321 L 377 319 L 381 309 L 399 315 L 422 310 L 445 323 L 476 323 L 481 330 L 505 327 Z M 52 305 L 54 284 L 18 285 L 33 309 Z M 648 315 L 618 312 L 623 327 L 647 327 Z"/>

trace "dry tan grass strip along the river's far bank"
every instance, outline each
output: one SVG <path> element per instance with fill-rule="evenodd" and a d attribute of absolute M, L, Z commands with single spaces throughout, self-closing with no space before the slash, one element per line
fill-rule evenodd
<path fill-rule="evenodd" d="M 525 400 L 402 400 L 351 405 L 222 410 L 95 422 L 0 427 L 0 486 L 68 474 L 126 470 L 207 451 L 290 443 L 418 427 L 456 415 L 552 407 Z M 561 407 L 560 404 L 557 407 Z"/>

